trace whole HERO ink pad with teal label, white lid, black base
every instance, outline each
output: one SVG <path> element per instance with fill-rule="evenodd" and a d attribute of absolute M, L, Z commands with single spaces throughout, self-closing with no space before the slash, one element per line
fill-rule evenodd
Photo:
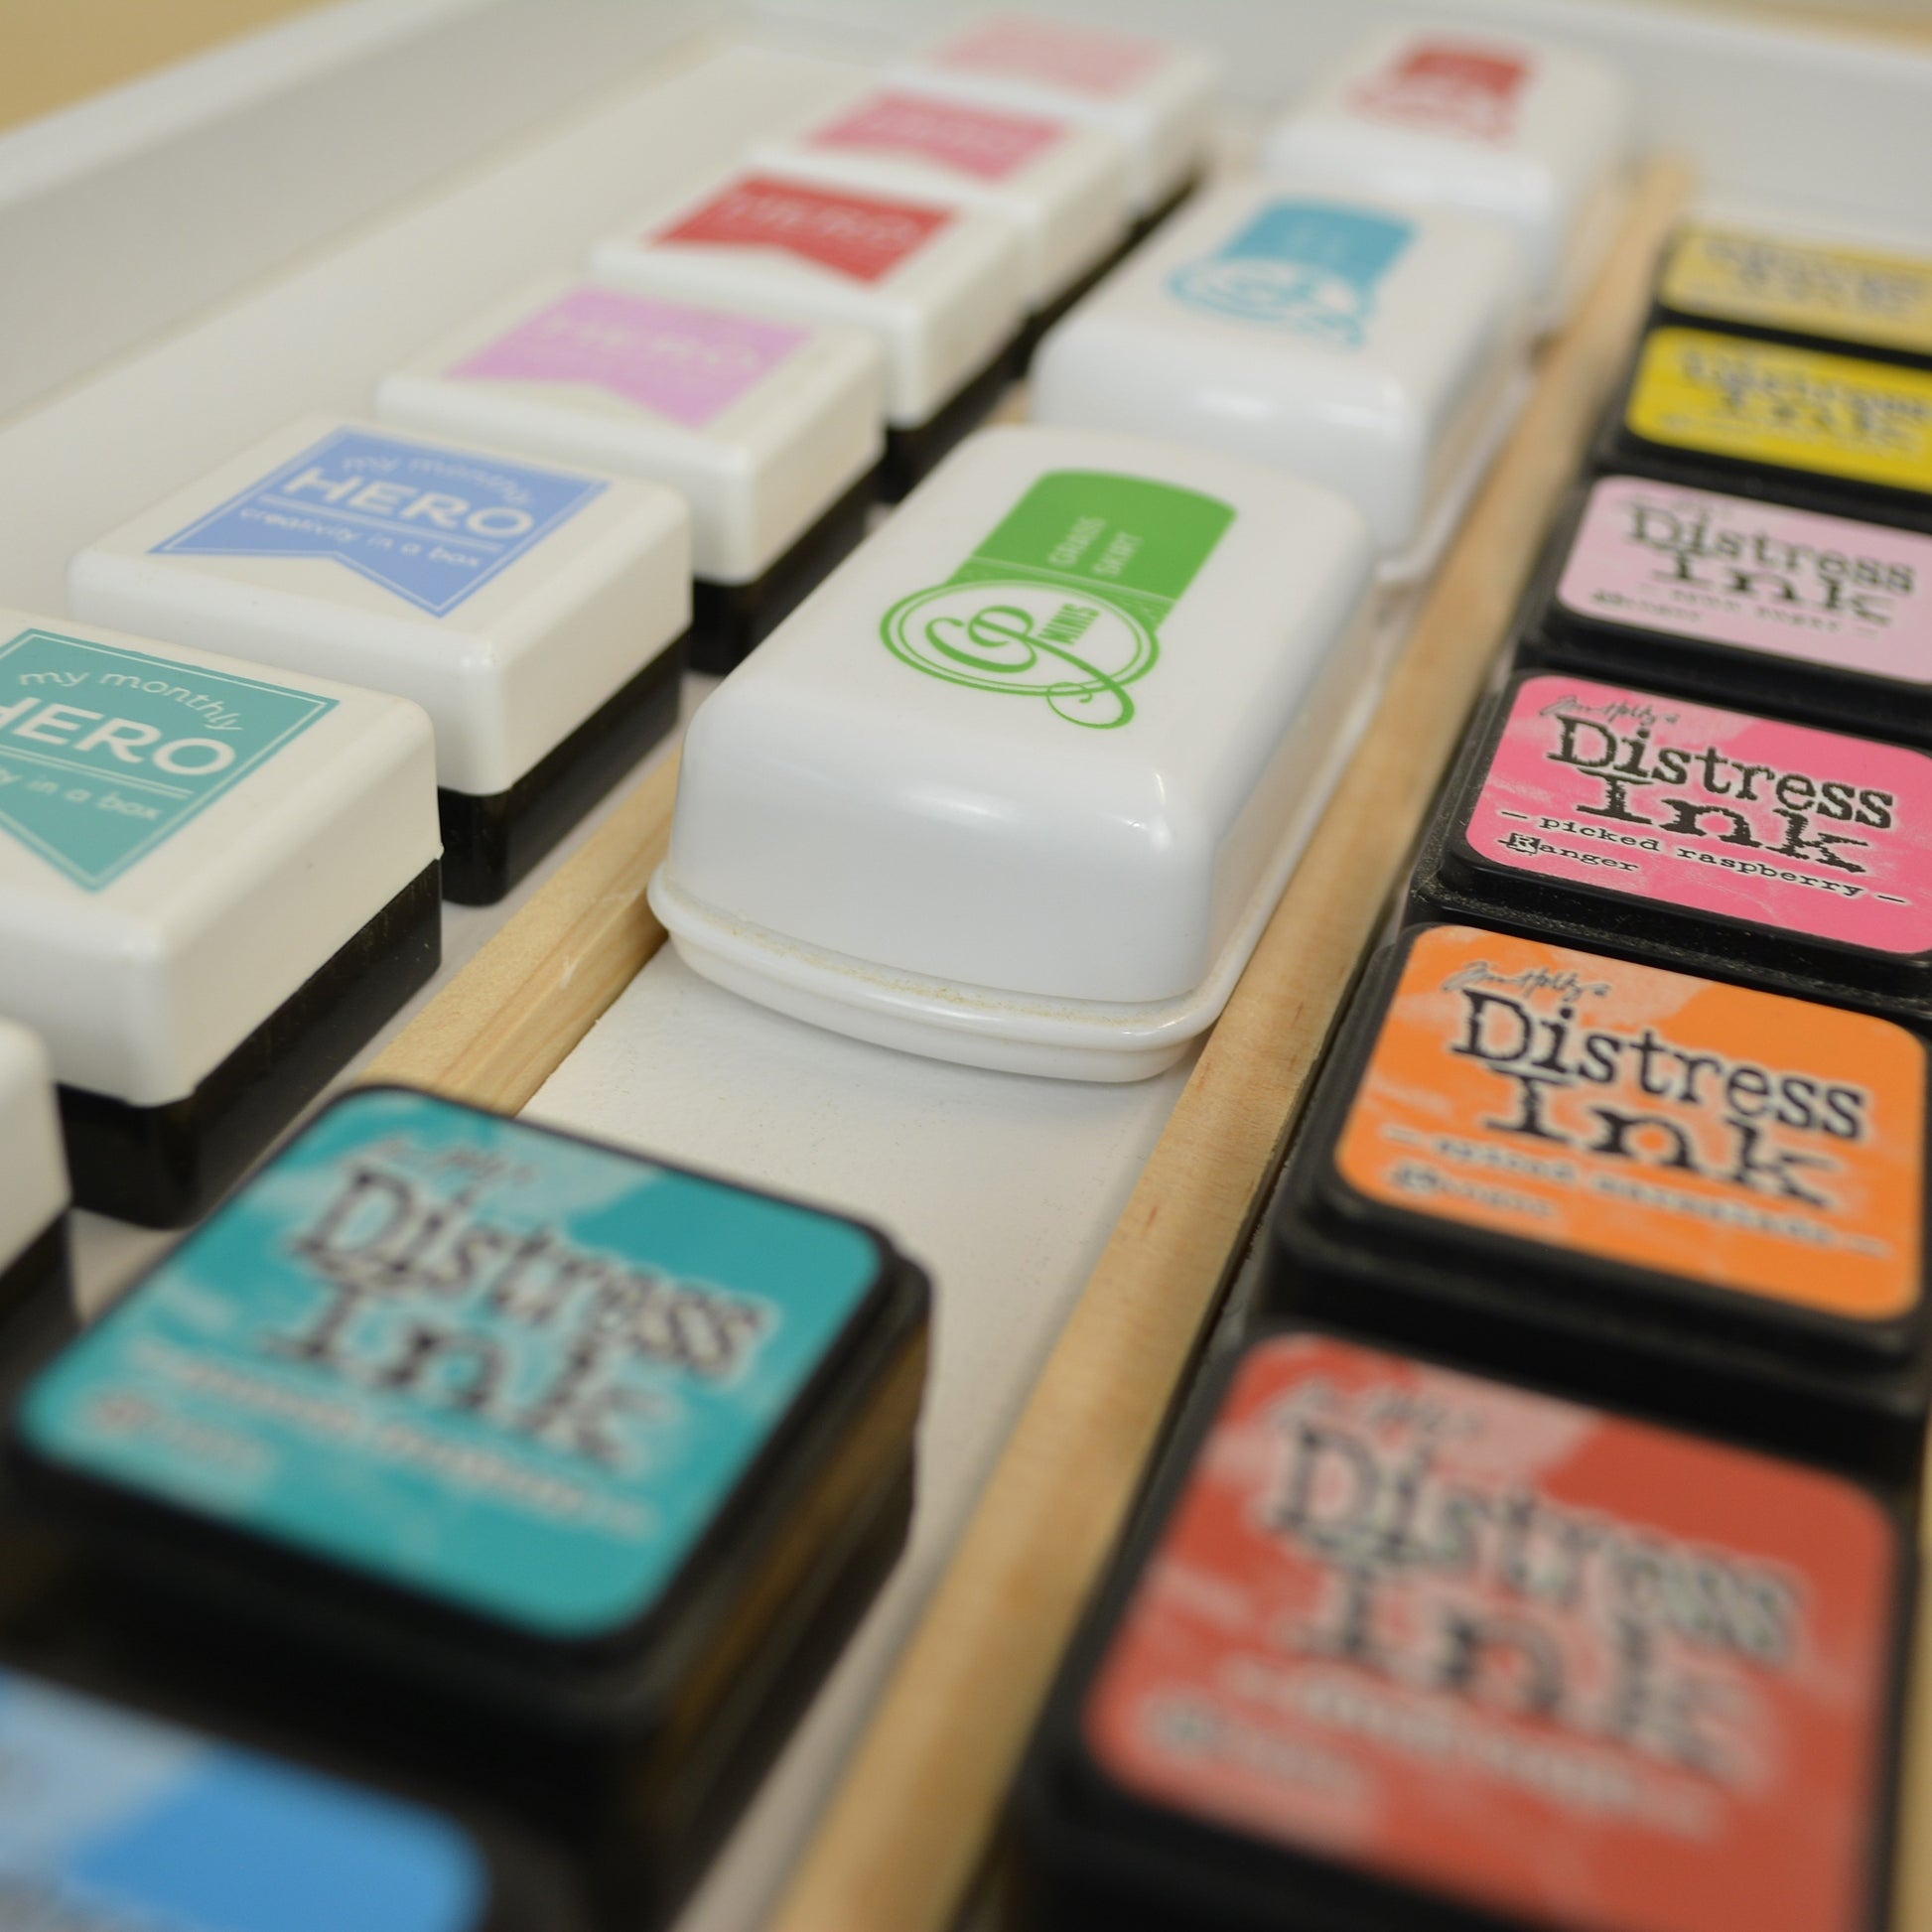
<path fill-rule="evenodd" d="M 81 1208 L 191 1221 L 440 951 L 415 705 L 0 611 L 0 1014 Z"/>

